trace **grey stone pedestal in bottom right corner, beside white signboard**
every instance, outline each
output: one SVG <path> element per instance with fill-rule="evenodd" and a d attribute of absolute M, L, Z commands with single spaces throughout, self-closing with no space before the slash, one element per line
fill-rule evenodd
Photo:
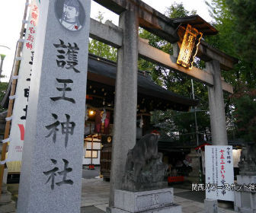
<path fill-rule="evenodd" d="M 248 186 L 256 183 L 256 176 L 238 175 L 237 184 Z M 243 188 L 243 187 L 242 187 Z M 242 213 L 256 213 L 256 190 L 243 189 L 235 192 L 235 211 Z"/>

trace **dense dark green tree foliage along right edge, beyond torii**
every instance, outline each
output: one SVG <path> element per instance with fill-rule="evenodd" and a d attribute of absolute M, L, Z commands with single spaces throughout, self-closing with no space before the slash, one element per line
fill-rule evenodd
<path fill-rule="evenodd" d="M 238 58 L 238 64 L 232 71 L 222 72 L 235 89 L 232 99 L 226 96 L 229 114 L 235 116 L 238 136 L 247 141 L 256 141 L 256 2 L 212 0 L 208 5 L 219 34 L 206 38 L 206 41 Z"/>

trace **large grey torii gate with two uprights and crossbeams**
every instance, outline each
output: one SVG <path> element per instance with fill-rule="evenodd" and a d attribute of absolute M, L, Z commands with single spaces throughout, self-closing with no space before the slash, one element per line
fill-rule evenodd
<path fill-rule="evenodd" d="M 126 154 L 136 142 L 136 101 L 138 54 L 143 59 L 189 75 L 208 85 L 210 123 L 213 145 L 228 145 L 223 91 L 232 93 L 232 86 L 223 81 L 221 69 L 229 70 L 235 59 L 201 42 L 197 56 L 206 62 L 206 71 L 188 70 L 177 65 L 170 56 L 138 37 L 139 27 L 170 43 L 180 41 L 168 17 L 140 0 L 94 0 L 120 15 L 119 27 L 106 26 L 91 19 L 90 37 L 118 48 L 117 81 L 114 110 L 114 142 L 110 176 L 110 207 L 114 205 L 114 189 L 119 189 Z"/>

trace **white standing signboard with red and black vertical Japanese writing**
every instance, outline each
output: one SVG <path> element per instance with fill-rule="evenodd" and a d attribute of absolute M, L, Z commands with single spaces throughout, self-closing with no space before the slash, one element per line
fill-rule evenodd
<path fill-rule="evenodd" d="M 232 146 L 206 146 L 206 199 L 234 201 Z"/>

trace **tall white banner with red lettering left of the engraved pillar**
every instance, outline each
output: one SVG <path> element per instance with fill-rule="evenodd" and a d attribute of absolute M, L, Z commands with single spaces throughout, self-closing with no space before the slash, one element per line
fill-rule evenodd
<path fill-rule="evenodd" d="M 38 0 L 30 5 L 26 34 L 22 49 L 21 64 L 18 73 L 18 83 L 14 97 L 14 109 L 11 121 L 10 145 L 7 161 L 21 161 L 24 144 L 25 124 L 27 118 L 27 102 L 30 90 L 30 76 L 34 59 L 34 46 L 37 35 L 37 20 L 39 17 Z M 14 77 L 15 78 L 15 77 Z"/>

